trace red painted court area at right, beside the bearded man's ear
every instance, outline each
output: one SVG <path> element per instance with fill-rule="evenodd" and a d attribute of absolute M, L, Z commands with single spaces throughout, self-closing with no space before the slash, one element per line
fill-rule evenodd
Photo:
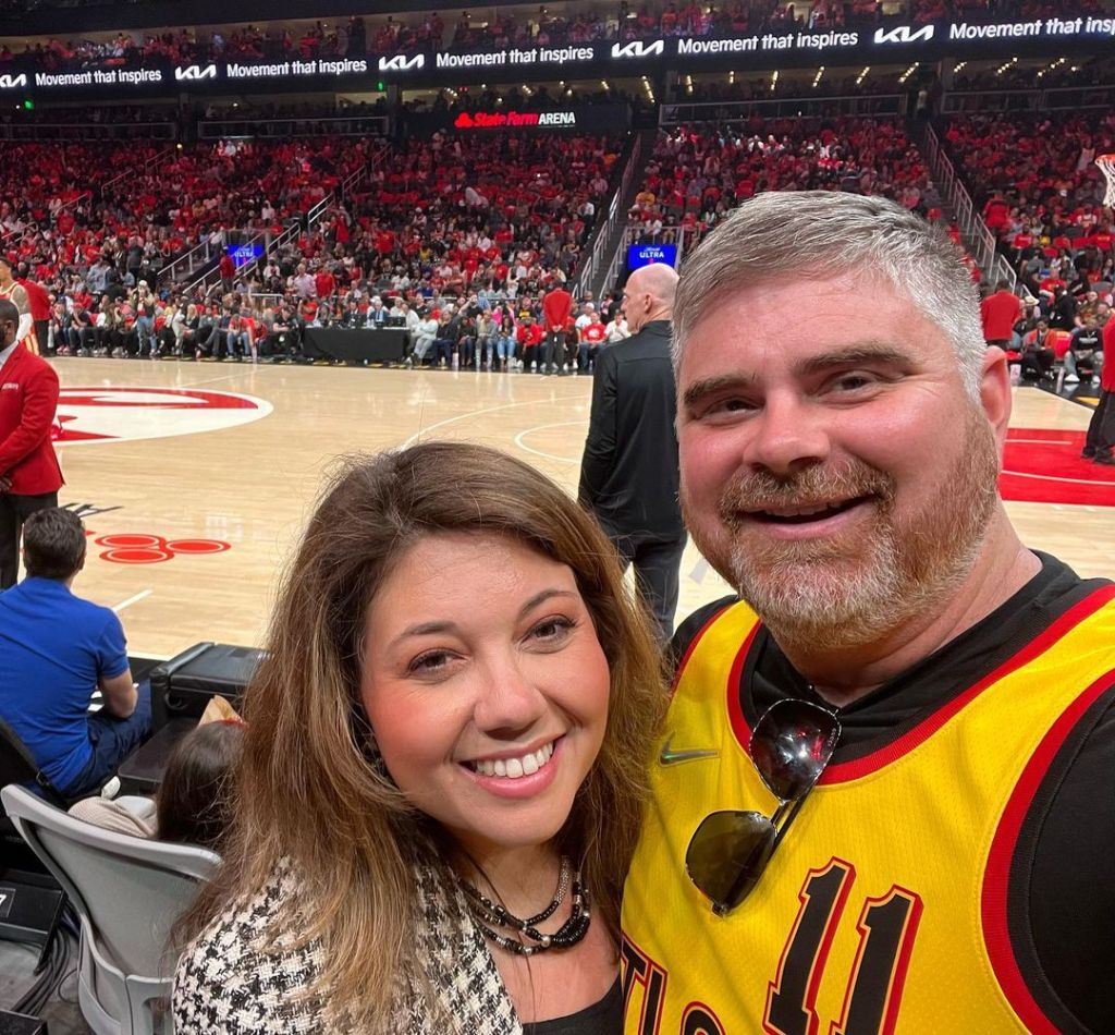
<path fill-rule="evenodd" d="M 1084 432 L 1010 428 L 999 477 L 1002 499 L 1115 506 L 1115 467 L 1084 460 L 1083 448 Z"/>

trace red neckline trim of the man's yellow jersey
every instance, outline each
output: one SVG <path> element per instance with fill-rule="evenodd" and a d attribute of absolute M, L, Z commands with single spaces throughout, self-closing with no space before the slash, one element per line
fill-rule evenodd
<path fill-rule="evenodd" d="M 892 744 L 864 755 L 862 758 L 853 758 L 850 762 L 831 763 L 821 774 L 818 785 L 844 783 L 849 780 L 859 780 L 878 772 L 885 765 L 901 758 L 908 752 L 913 751 L 919 744 L 929 739 L 957 713 L 962 710 L 972 700 L 979 697 L 989 686 L 995 685 L 1000 679 L 1006 678 L 1012 671 L 1029 665 L 1036 657 L 1048 650 L 1057 640 L 1066 636 L 1072 629 L 1078 626 L 1086 618 L 1098 611 L 1104 604 L 1115 600 L 1115 586 L 1104 586 L 1094 593 L 1085 597 L 1079 603 L 1074 604 L 1047 629 L 1034 637 L 1012 658 L 1008 658 L 995 671 L 989 673 L 978 683 L 972 684 L 962 694 L 957 695 L 952 700 L 938 708 L 921 723 L 914 726 L 909 733 L 904 733 Z M 747 751 L 747 745 L 752 739 L 752 729 L 744 717 L 744 712 L 739 703 L 739 675 L 744 668 L 748 648 L 755 639 L 756 626 L 747 637 L 740 648 L 736 660 L 731 665 L 731 673 L 728 675 L 728 716 L 731 720 L 731 728 L 735 731 L 736 739 L 740 747 Z"/>

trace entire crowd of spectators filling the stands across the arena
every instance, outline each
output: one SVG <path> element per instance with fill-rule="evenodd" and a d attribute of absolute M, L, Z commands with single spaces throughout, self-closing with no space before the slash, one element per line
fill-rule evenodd
<path fill-rule="evenodd" d="M 976 117 L 946 134 L 1034 300 L 1019 335 L 1038 319 L 1067 320 L 1069 331 L 1082 307 L 1109 294 L 1115 228 L 1092 158 L 1113 129 L 1111 117 Z M 52 164 L 46 146 L 12 148 L 9 186 L 23 187 L 9 191 L 18 200 L 0 207 L 0 225 L 9 258 L 50 292 L 52 350 L 284 359 L 300 357 L 308 327 L 397 326 L 410 331 L 418 361 L 514 368 L 539 345 L 545 293 L 575 280 L 615 190 L 622 139 L 439 132 L 367 165 L 369 145 L 341 139 L 71 145 Z M 1005 148 L 1018 157 L 1009 168 Z M 332 193 L 361 167 L 355 191 Z M 691 244 L 756 193 L 816 188 L 881 194 L 941 216 L 900 119 L 754 118 L 661 133 L 629 217 L 643 240 L 676 240 L 680 228 Z M 259 261 L 237 268 L 224 253 L 239 240 L 233 229 L 273 236 L 323 199 L 319 222 Z M 224 253 L 219 275 L 191 293 L 164 271 L 206 240 Z M 622 337 L 611 300 L 592 304 L 579 313 L 592 337 Z M 574 357 L 580 344 L 571 332 Z"/>

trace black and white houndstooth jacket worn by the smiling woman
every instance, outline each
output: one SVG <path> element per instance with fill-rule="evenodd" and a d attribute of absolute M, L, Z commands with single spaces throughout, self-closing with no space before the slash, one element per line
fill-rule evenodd
<path fill-rule="evenodd" d="M 424 903 L 421 952 L 437 1002 L 417 989 L 400 996 L 391 1032 L 397 1035 L 522 1035 L 495 960 L 469 919 L 457 888 L 436 873 L 417 874 Z M 214 920 L 186 949 L 174 976 L 176 1035 L 351 1035 L 319 999 L 306 994 L 324 966 L 317 942 L 293 947 L 279 938 L 268 948 L 272 921 L 298 896 L 289 864 L 251 899 Z"/>

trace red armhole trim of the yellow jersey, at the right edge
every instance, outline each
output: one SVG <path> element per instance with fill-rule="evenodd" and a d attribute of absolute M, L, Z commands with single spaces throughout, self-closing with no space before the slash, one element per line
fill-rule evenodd
<path fill-rule="evenodd" d="M 1010 863 L 1015 857 L 1018 835 L 1021 832 L 1026 813 L 1053 764 L 1054 756 L 1084 713 L 1113 686 L 1115 686 L 1115 675 L 1112 673 L 1097 679 L 1061 713 L 1060 718 L 1054 723 L 1041 739 L 1030 756 L 1030 761 L 1026 763 L 1026 768 L 1022 770 L 1010 800 L 1007 802 L 1007 807 L 1002 812 L 1002 819 L 999 821 L 995 838 L 991 840 L 987 869 L 983 871 L 980 915 L 988 959 L 991 961 L 991 968 L 995 970 L 1004 995 L 1030 1032 L 1057 1035 L 1058 1028 L 1046 1017 L 1026 986 L 1026 980 L 1018 967 L 1018 959 L 1015 957 L 1014 947 L 1010 944 L 1010 931 L 1007 926 Z"/>

